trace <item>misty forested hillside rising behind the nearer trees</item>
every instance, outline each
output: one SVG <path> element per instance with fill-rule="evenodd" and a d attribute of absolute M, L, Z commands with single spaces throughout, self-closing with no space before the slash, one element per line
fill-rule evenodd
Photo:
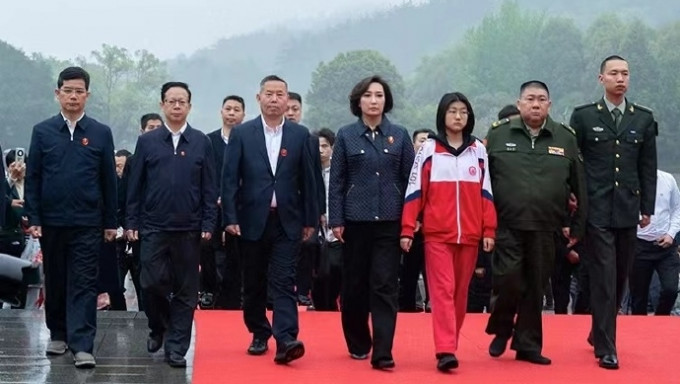
<path fill-rule="evenodd" d="M 501 0 L 431 0 L 336 22 L 325 29 L 308 30 L 303 24 L 284 25 L 220 40 L 189 57 L 171 61 L 169 68 L 175 77 L 200 89 L 198 106 L 204 102 L 215 105 L 215 100 L 221 100 L 225 92 L 253 94 L 254 84 L 263 74 L 271 72 L 285 76 L 292 88 L 304 93 L 319 62 L 354 49 L 375 49 L 408 76 L 423 56 L 460 40 L 467 30 L 479 24 L 485 15 L 498 10 L 502 3 Z M 519 0 L 516 3 L 522 9 L 540 11 L 546 16 L 572 18 L 583 28 L 608 12 L 624 19 L 640 18 L 652 27 L 680 15 L 680 2 L 668 0 Z"/>

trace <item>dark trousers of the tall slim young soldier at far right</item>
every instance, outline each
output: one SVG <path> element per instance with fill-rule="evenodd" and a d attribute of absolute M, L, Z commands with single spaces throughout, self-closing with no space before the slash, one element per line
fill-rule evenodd
<path fill-rule="evenodd" d="M 637 228 L 588 225 L 582 260 L 590 278 L 595 356 L 616 354 L 616 316 L 635 255 Z"/>

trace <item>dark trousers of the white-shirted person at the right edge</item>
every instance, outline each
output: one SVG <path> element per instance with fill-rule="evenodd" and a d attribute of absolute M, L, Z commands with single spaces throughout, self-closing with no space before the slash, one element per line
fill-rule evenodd
<path fill-rule="evenodd" d="M 678 297 L 678 247 L 662 248 L 654 242 L 638 239 L 629 282 L 633 315 L 647 315 L 649 284 L 654 271 L 659 274 L 661 283 L 655 314 L 668 316 Z"/>

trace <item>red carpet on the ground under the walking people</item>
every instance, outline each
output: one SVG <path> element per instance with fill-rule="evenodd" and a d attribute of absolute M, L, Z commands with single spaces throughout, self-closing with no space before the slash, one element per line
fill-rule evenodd
<path fill-rule="evenodd" d="M 264 356 L 249 356 L 251 335 L 241 312 L 197 311 L 194 384 L 213 383 L 680 383 L 680 318 L 619 317 L 621 369 L 597 366 L 586 343 L 590 317 L 544 316 L 543 352 L 551 366 L 514 360 L 508 350 L 489 357 L 491 337 L 484 333 L 487 315 L 469 315 L 452 374 L 436 370 L 431 320 L 427 314 L 399 314 L 393 372 L 371 369 L 368 360 L 349 358 L 338 313 L 300 312 L 300 339 L 306 355 L 288 366 L 274 364 L 275 343 Z"/>

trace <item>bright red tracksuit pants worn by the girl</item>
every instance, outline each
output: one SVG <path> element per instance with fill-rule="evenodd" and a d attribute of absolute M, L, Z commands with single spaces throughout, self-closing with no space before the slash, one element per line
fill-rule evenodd
<path fill-rule="evenodd" d="M 454 353 L 458 349 L 477 252 L 477 245 L 436 243 L 425 239 L 425 270 L 436 353 Z"/>

